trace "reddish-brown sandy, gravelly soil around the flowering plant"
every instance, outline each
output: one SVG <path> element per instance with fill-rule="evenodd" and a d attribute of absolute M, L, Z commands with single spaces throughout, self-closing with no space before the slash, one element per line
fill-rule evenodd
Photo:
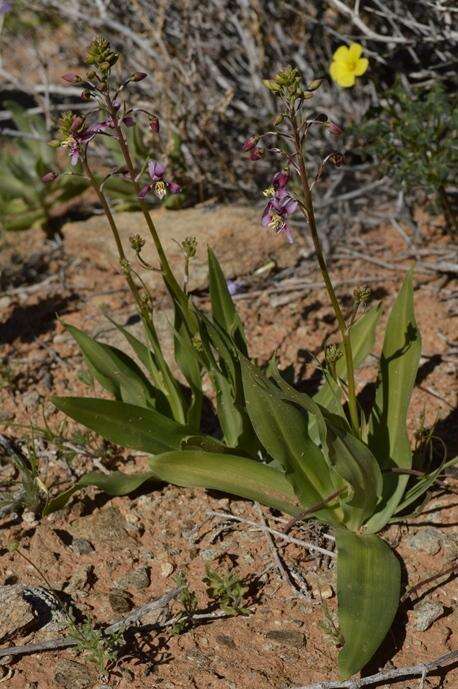
<path fill-rule="evenodd" d="M 432 262 L 437 257 L 434 251 L 446 246 L 447 240 L 432 222 L 423 223 L 422 230 L 425 243 L 420 249 L 431 253 L 422 254 L 421 260 Z M 363 249 L 358 244 L 361 241 Z M 412 263 L 402 238 L 392 228 L 380 227 L 359 239 L 350 236 L 345 247 L 337 248 L 337 253 L 342 255 L 348 248 L 363 253 L 370 250 L 371 256 L 400 268 L 387 270 L 354 257 L 340 258 L 332 264 L 338 282 L 370 277 L 374 298 L 383 300 L 386 313 L 402 279 L 401 267 Z M 401 260 L 404 254 L 405 260 Z M 29 262 L 25 278 L 21 268 L 24 259 Z M 42 426 L 43 412 L 53 428 L 62 421 L 49 403 L 51 394 L 91 394 L 81 377 L 81 356 L 59 318 L 92 334 L 104 331 L 109 339 L 100 307 L 108 305 L 116 318 L 124 322 L 132 319 L 133 309 L 124 291 L 124 279 L 114 268 L 101 265 L 96 255 L 91 259 L 69 255 L 62 248 L 44 247 L 39 233 L 29 233 L 26 241 L 4 247 L 2 264 L 5 292 L 0 297 L 0 430 L 20 441 L 28 431 L 14 424 L 33 422 Z M 336 336 L 323 290 L 307 287 L 287 291 L 287 282 L 272 283 L 271 276 L 262 280 L 253 274 L 240 277 L 245 281 L 246 292 L 238 306 L 253 354 L 265 361 L 276 351 L 281 365 L 292 364 L 297 376 L 309 379 L 307 387 L 313 389 L 318 384 L 314 357 L 320 357 L 324 344 Z M 307 282 L 319 279 L 308 261 L 297 266 L 292 277 L 302 277 Z M 283 289 L 279 289 L 280 285 Z M 352 290 L 349 285 L 339 288 L 344 303 L 348 303 Z M 452 283 L 444 276 L 417 272 L 415 304 L 423 337 L 423 359 L 409 427 L 413 434 L 422 419 L 426 427 L 436 424 L 435 434 L 446 443 L 449 457 L 457 452 L 453 412 L 454 295 Z M 205 303 L 204 292 L 198 298 Z M 156 308 L 161 306 L 167 308 L 167 303 L 159 297 Z M 380 345 L 379 341 L 376 354 Z M 371 392 L 375 364 L 375 359 L 369 358 L 361 370 L 363 395 Z M 91 447 L 98 452 L 100 443 L 93 442 Z M 439 442 L 435 447 L 439 453 Z M 76 453 L 69 470 L 56 456 L 51 443 L 40 441 L 37 448 L 43 480 L 52 490 L 57 490 L 58 484 L 59 490 L 70 485 L 75 476 L 91 466 L 90 457 Z M 112 448 L 102 448 L 99 454 L 110 468 L 134 471 L 142 464 L 141 458 Z M 9 471 L 11 476 L 10 468 L 0 465 L 0 469 Z M 384 534 L 403 558 L 406 588 L 449 567 L 456 557 L 453 485 L 453 477 L 447 477 L 444 485 L 432 492 L 420 516 L 393 525 Z M 322 628 L 326 608 L 331 616 L 336 609 L 332 560 L 314 557 L 296 545 L 277 543 L 285 565 L 290 571 L 299 572 L 305 582 L 305 595 L 301 595 L 281 578 L 267 537 L 243 523 L 232 523 L 221 530 L 223 522 L 210 518 L 209 510 L 225 510 L 260 520 L 251 503 L 173 486 L 145 489 L 113 500 L 90 490 L 75 497 L 64 511 L 40 522 L 30 514 L 7 515 L 0 520 L 0 584 L 43 585 L 29 564 L 8 552 L 8 543 L 18 541 L 21 550 L 46 573 L 56 591 L 70 596 L 82 614 L 104 623 L 117 619 L 123 605 L 127 610 L 173 588 L 179 572 L 186 574 L 190 588 L 196 591 L 199 609 L 213 609 L 203 582 L 205 566 L 221 571 L 234 568 L 248 586 L 249 615 L 207 620 L 178 636 L 167 630 L 138 631 L 129 637 L 108 685 L 120 689 L 286 689 L 336 677 L 338 649 Z M 263 514 L 271 525 L 278 526 L 281 517 L 267 509 Z M 437 550 L 431 546 L 430 552 L 426 552 L 428 546 L 426 550 L 424 546 L 418 547 L 414 537 L 425 527 L 433 530 Z M 316 524 L 296 526 L 293 534 L 330 547 L 324 530 Z M 75 539 L 86 539 L 92 547 L 81 554 Z M 133 571 L 143 574 L 126 579 Z M 113 595 L 120 590 L 127 593 Z M 325 604 L 320 592 L 326 597 Z M 456 648 L 456 594 L 451 577 L 422 587 L 413 600 L 400 608 L 386 642 L 366 673 L 427 661 Z M 415 626 L 415 615 L 425 600 L 442 604 L 443 613 L 427 631 L 420 632 Z M 178 609 L 176 603 L 171 605 L 172 612 Z M 55 636 L 55 629 L 27 629 L 25 635 L 19 633 L 8 642 L 22 644 L 46 635 Z M 6 666 L 3 669 L 6 671 Z M 103 683 L 87 658 L 77 657 L 71 649 L 22 657 L 11 663 L 11 670 L 12 676 L 5 685 L 11 689 L 83 688 Z M 454 682 L 456 674 L 451 672 L 443 680 L 429 677 L 425 686 L 452 689 Z M 417 683 L 418 679 L 412 679 L 397 686 L 407 689 Z"/>

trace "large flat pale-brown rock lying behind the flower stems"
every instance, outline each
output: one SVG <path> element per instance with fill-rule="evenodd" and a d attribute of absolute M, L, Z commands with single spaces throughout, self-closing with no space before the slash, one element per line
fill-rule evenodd
<path fill-rule="evenodd" d="M 191 262 L 191 290 L 204 289 L 208 285 L 207 245 L 214 250 L 227 278 L 249 275 L 274 259 L 279 268 L 295 265 L 304 241 L 300 234 L 290 245 L 281 235 L 265 230 L 260 225 L 261 212 L 246 206 L 200 204 L 177 212 L 163 208 L 151 212 L 169 262 L 178 281 L 184 278 L 183 252 L 177 245 L 185 237 L 198 240 L 197 254 Z M 146 239 L 142 257 L 158 267 L 153 242 L 141 213 L 116 213 L 116 224 L 127 258 L 135 263 L 135 254 L 129 244 L 129 236 L 139 233 Z M 116 246 L 104 217 L 94 216 L 84 222 L 69 223 L 64 228 L 65 244 L 69 254 L 88 257 L 105 267 L 118 265 Z M 153 293 L 165 293 L 157 271 L 139 270 L 141 278 Z"/>

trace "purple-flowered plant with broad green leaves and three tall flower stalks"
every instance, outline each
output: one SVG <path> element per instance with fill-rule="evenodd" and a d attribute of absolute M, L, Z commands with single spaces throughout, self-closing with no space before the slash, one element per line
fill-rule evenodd
<path fill-rule="evenodd" d="M 319 519 L 336 537 L 338 617 L 344 639 L 339 666 L 342 676 L 351 676 L 380 646 L 399 604 L 399 561 L 378 533 L 415 506 L 444 466 L 420 477 L 416 472 L 412 475 L 407 411 L 420 359 L 412 273 L 407 274 L 388 318 L 375 400 L 370 409 L 362 409 L 356 395 L 356 370 L 373 349 L 381 310 L 375 306 L 359 315 L 358 307 L 367 299 L 367 291 L 362 290 L 355 294 L 351 313 L 344 313 L 321 249 L 312 196 L 312 187 L 325 165 L 339 164 L 341 156 L 335 152 L 325 156 L 312 183 L 306 161 L 307 137 L 313 127 L 327 127 L 336 135 L 340 129 L 326 117 L 314 117 L 307 110 L 307 102 L 320 82 L 304 85 L 296 69 L 283 70 L 266 82 L 279 104 L 274 130 L 251 136 L 244 149 L 252 160 L 270 149 L 282 158 L 284 167 L 264 192 L 267 203 L 262 224 L 289 237 L 289 215 L 300 210 L 307 219 L 339 341 L 326 351 L 323 384 L 313 397 L 292 387 L 274 359 L 266 367 L 257 365 L 250 358 L 243 325 L 211 249 L 210 313 L 193 303 L 170 267 L 144 198 L 148 193 L 163 198 L 179 190 L 157 161 L 149 161 L 141 171 L 132 162 L 125 130 L 133 115 L 114 83 L 112 68 L 117 60 L 107 41 L 98 38 L 93 42 L 89 72 L 72 79 L 84 84 L 86 97 L 94 100 L 103 119 L 90 124 L 85 118 L 65 116 L 59 142 L 69 150 L 72 162 L 81 160 L 105 210 L 120 267 L 144 326 L 145 341 L 115 324 L 137 363 L 118 348 L 68 325 L 89 371 L 113 399 L 58 397 L 54 404 L 107 440 L 151 457 L 149 469 L 143 473 L 91 472 L 83 476 L 51 499 L 46 513 L 61 508 L 75 491 L 86 486 L 124 495 L 149 480 L 217 489 L 293 516 Z M 143 76 L 132 75 L 123 82 L 122 94 L 130 81 Z M 122 152 L 156 247 L 175 309 L 175 360 L 188 388 L 175 377 L 163 355 L 151 295 L 126 258 L 116 219 L 92 172 L 89 143 L 101 133 L 108 133 Z M 267 142 L 273 134 L 276 140 L 270 146 Z M 296 197 L 288 189 L 294 176 L 300 184 Z M 131 238 L 140 259 L 145 241 L 140 235 Z M 185 249 L 185 260 L 192 261 Z M 219 421 L 215 436 L 202 432 L 206 375 L 214 388 Z M 207 576 L 212 590 L 226 596 L 229 608 L 240 608 L 244 592 L 239 582 L 214 573 Z"/>

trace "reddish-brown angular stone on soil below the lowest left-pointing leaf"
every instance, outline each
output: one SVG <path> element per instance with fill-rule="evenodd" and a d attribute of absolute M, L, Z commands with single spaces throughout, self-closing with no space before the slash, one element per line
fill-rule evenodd
<path fill-rule="evenodd" d="M 127 523 L 117 507 L 105 507 L 88 517 L 80 517 L 68 528 L 73 537 L 99 543 L 116 544 L 123 548 L 130 545 L 126 533 Z"/>

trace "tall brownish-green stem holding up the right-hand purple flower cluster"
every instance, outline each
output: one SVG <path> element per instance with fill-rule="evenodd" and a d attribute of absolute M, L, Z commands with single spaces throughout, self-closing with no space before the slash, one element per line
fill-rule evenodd
<path fill-rule="evenodd" d="M 359 437 L 360 427 L 359 427 L 359 416 L 358 416 L 358 406 L 356 402 L 356 386 L 355 386 L 355 370 L 353 366 L 353 353 L 351 347 L 351 340 L 347 330 L 347 325 L 345 323 L 345 318 L 342 314 L 342 310 L 339 305 L 334 287 L 329 275 L 328 267 L 326 265 L 326 260 L 323 255 L 323 250 L 321 248 L 321 242 L 318 235 L 318 230 L 316 226 L 315 211 L 313 208 L 313 197 L 312 191 L 310 189 L 310 184 L 307 175 L 307 169 L 305 167 L 304 153 L 302 150 L 301 135 L 299 132 L 299 127 L 297 123 L 296 114 L 292 113 L 290 115 L 291 124 L 293 127 L 294 143 L 297 153 L 297 159 L 299 164 L 299 177 L 302 184 L 302 191 L 304 194 L 304 202 L 300 204 L 302 211 L 308 220 L 310 227 L 310 232 L 312 235 L 313 245 L 315 247 L 315 253 L 318 259 L 318 264 L 320 266 L 321 275 L 323 276 L 323 281 L 326 290 L 331 300 L 332 308 L 337 319 L 337 324 L 342 337 L 342 345 L 344 348 L 345 362 L 347 365 L 347 384 L 348 384 L 348 409 L 350 412 L 350 420 L 354 433 Z"/>

